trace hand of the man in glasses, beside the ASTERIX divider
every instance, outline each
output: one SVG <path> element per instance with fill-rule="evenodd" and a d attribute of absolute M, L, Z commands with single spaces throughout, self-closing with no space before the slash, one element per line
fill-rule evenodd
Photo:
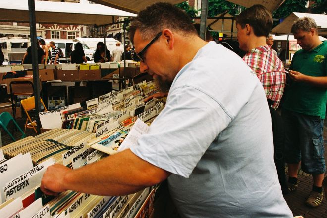
<path fill-rule="evenodd" d="M 66 191 L 64 188 L 64 176 L 72 169 L 61 164 L 49 166 L 41 181 L 41 191 L 47 195 L 57 195 Z"/>

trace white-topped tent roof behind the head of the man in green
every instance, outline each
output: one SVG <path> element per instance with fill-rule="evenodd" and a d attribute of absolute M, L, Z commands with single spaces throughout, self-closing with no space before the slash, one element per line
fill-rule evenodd
<path fill-rule="evenodd" d="M 295 20 L 301 17 L 311 17 L 316 21 L 319 35 L 327 35 L 327 15 L 308 14 L 308 13 L 291 13 L 283 22 L 272 29 L 274 34 L 291 34 L 291 27 Z"/>

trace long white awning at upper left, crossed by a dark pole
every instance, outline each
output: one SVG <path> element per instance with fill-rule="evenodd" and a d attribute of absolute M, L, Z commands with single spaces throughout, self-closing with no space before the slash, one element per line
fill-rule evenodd
<path fill-rule="evenodd" d="M 100 4 L 35 1 L 36 23 L 100 26 L 115 22 L 118 16 L 134 17 L 136 14 Z M 0 21 L 29 22 L 28 1 L 0 0 Z"/>

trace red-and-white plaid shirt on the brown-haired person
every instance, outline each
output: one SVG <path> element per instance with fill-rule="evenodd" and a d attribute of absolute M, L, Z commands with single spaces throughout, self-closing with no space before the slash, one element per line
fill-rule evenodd
<path fill-rule="evenodd" d="M 286 74 L 277 52 L 270 46 L 260 46 L 248 52 L 243 60 L 258 76 L 264 87 L 267 99 L 273 102 L 272 108 L 277 109 L 283 95 Z"/>

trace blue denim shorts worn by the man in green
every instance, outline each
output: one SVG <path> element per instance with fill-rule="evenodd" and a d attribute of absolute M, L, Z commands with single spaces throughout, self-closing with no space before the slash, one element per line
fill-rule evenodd
<path fill-rule="evenodd" d="M 297 164 L 307 174 L 325 173 L 324 119 L 283 109 L 285 123 L 285 162 Z"/>

